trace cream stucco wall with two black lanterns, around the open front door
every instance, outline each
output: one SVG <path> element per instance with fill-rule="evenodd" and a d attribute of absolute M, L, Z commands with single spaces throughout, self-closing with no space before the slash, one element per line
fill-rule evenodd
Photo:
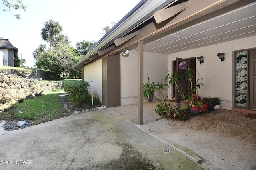
<path fill-rule="evenodd" d="M 198 95 L 203 97 L 219 96 L 222 100 L 222 109 L 232 109 L 232 83 L 233 83 L 233 51 L 240 49 L 249 49 L 256 47 L 256 37 L 249 37 L 238 39 L 236 41 L 228 41 L 206 47 L 196 48 L 192 50 L 182 51 L 179 53 L 172 53 L 169 55 L 169 70 L 172 70 L 172 62 L 176 57 L 190 58 L 190 57 L 204 57 L 204 63 L 200 65 L 196 60 L 196 70 L 199 75 L 196 75 L 196 80 L 202 78 L 200 81 L 204 85 L 198 90 Z M 225 53 L 225 60 L 220 61 L 217 54 Z M 172 96 L 169 90 L 169 96 Z"/>

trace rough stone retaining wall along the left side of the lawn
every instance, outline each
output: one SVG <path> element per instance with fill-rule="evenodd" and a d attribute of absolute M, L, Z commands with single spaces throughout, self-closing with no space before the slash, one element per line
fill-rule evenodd
<path fill-rule="evenodd" d="M 24 98 L 40 96 L 43 91 L 62 88 L 62 81 L 41 82 L 14 74 L 0 73 L 0 113 Z"/>

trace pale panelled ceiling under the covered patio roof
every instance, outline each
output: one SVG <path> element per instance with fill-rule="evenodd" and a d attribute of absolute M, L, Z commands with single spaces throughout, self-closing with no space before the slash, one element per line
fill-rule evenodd
<path fill-rule="evenodd" d="M 148 39 L 144 41 L 144 51 L 170 54 L 256 35 L 256 2 L 236 6 L 225 7 Z"/>

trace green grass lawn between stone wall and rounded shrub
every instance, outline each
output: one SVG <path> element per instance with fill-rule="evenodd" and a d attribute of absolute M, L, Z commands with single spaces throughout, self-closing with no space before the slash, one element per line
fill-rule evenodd
<path fill-rule="evenodd" d="M 42 93 L 42 96 L 34 99 L 24 99 L 24 102 L 17 103 L 14 107 L 9 108 L 0 115 L 0 119 L 20 121 L 33 120 L 34 124 L 44 123 L 66 117 L 70 115 L 60 102 L 60 93 L 62 89 L 54 89 Z"/>

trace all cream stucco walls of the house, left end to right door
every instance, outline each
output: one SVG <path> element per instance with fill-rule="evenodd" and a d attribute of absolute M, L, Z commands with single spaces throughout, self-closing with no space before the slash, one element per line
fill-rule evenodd
<path fill-rule="evenodd" d="M 150 83 L 160 82 L 166 76 L 165 70 L 172 70 L 172 61 L 178 58 L 204 57 L 204 63 L 196 60 L 196 80 L 202 78 L 199 82 L 204 85 L 198 89 L 198 95 L 202 97 L 221 98 L 221 108 L 232 110 L 232 92 L 233 92 L 233 51 L 249 49 L 256 47 L 256 36 L 234 41 L 227 41 L 216 45 L 184 50 L 178 53 L 172 53 L 169 56 L 158 53 L 144 52 L 144 70 L 143 80 L 147 82 L 147 74 L 150 77 Z M 225 53 L 225 60 L 221 63 L 217 53 Z M 131 50 L 127 57 L 120 54 L 120 94 L 121 106 L 136 104 L 138 102 L 138 69 L 137 69 L 137 51 Z M 84 81 L 91 81 L 93 93 L 99 96 L 102 101 L 102 59 L 85 66 Z M 172 88 L 166 89 L 169 98 L 173 96 Z M 159 94 L 161 95 L 161 94 Z M 144 99 L 144 102 L 147 102 Z"/>

